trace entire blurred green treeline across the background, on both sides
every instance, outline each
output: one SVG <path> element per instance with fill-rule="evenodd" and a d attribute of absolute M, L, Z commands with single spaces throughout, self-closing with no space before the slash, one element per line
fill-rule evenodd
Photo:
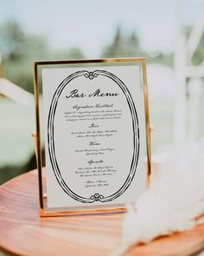
<path fill-rule="evenodd" d="M 191 28 L 186 28 L 188 37 Z M 9 21 L 0 26 L 0 55 L 2 55 L 3 74 L 10 81 L 20 85 L 23 89 L 33 92 L 32 62 L 41 60 L 82 59 L 85 57 L 81 49 L 50 49 L 48 37 L 26 33 L 20 23 Z M 137 33 L 123 35 L 121 27 L 116 30 L 113 41 L 105 46 L 100 57 L 128 57 L 144 56 L 148 63 L 163 63 L 173 67 L 174 56 L 163 52 L 148 53 L 140 45 Z M 204 35 L 201 37 L 193 56 L 194 65 L 204 60 Z"/>

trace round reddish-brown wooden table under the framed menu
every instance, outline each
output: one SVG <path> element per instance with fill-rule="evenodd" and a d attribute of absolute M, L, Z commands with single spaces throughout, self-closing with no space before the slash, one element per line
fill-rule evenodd
<path fill-rule="evenodd" d="M 0 187 L 0 248 L 14 255 L 104 256 L 119 244 L 124 213 L 39 217 L 37 173 Z M 125 256 L 195 255 L 204 247 L 204 225 L 134 246 Z"/>

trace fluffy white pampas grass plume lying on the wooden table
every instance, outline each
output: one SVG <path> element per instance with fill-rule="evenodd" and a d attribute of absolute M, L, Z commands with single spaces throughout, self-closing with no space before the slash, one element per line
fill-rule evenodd
<path fill-rule="evenodd" d="M 126 213 L 121 246 L 112 256 L 201 222 L 194 218 L 204 213 L 204 140 L 174 148 L 134 207 Z"/>

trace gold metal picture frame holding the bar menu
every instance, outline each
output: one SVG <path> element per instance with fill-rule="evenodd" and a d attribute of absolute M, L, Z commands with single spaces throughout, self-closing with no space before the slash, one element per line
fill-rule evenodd
<path fill-rule="evenodd" d="M 146 187 L 150 185 L 151 174 L 151 148 L 150 148 L 150 115 L 149 115 L 149 102 L 148 102 L 148 89 L 147 89 L 147 74 L 146 74 L 146 62 L 145 58 L 105 58 L 105 59 L 89 59 L 89 60 L 67 60 L 67 61 L 42 61 L 34 62 L 34 91 L 35 91 L 35 125 L 36 130 L 32 136 L 35 139 L 35 155 L 38 169 L 38 183 L 39 183 L 39 200 L 40 200 L 40 216 L 61 216 L 61 215 L 75 215 L 75 214 L 89 214 L 89 213 L 113 213 L 124 212 L 125 206 L 121 207 L 105 207 L 105 209 L 97 209 L 95 207 L 89 207 L 86 209 L 78 209 L 70 207 L 56 207 L 48 208 L 48 198 L 44 182 L 44 169 L 42 168 L 42 155 L 41 155 L 41 125 L 40 125 L 40 83 L 41 83 L 41 71 L 45 67 L 67 67 L 69 65 L 128 65 L 139 64 L 142 71 L 142 83 L 143 83 L 143 110 L 144 110 L 144 124 L 145 124 L 145 141 L 146 141 Z"/>

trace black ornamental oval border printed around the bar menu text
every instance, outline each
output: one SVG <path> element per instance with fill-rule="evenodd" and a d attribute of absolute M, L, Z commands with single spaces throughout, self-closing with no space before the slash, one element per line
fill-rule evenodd
<path fill-rule="evenodd" d="M 127 179 L 124 181 L 124 184 L 122 187 L 118 189 L 118 191 L 112 195 L 104 196 L 103 194 L 92 194 L 90 198 L 82 197 L 78 194 L 75 194 L 68 186 L 67 183 L 63 180 L 61 176 L 61 171 L 58 166 L 56 156 L 55 156 L 55 150 L 54 150 L 54 115 L 57 107 L 57 103 L 59 100 L 59 97 L 61 95 L 62 90 L 67 86 L 69 82 L 71 82 L 73 79 L 75 79 L 78 76 L 85 75 L 86 78 L 93 79 L 94 77 L 97 77 L 98 75 L 105 75 L 112 79 L 114 82 L 118 84 L 120 89 L 122 89 L 126 100 L 128 102 L 129 108 L 131 110 L 131 117 L 132 117 L 132 128 L 133 128 L 133 155 L 132 155 L 132 161 L 131 161 L 131 170 L 128 174 Z M 95 70 L 95 71 L 77 71 L 73 73 L 72 75 L 68 75 L 65 80 L 61 82 L 61 84 L 56 89 L 52 102 L 50 104 L 49 108 L 49 114 L 48 114 L 48 153 L 49 158 L 54 170 L 54 175 L 56 177 L 56 180 L 60 184 L 61 188 L 67 193 L 69 196 L 71 196 L 74 200 L 78 200 L 82 203 L 92 203 L 94 201 L 100 201 L 100 202 L 108 202 L 111 200 L 115 200 L 124 193 L 124 191 L 131 185 L 131 181 L 134 178 L 134 175 L 136 173 L 137 169 L 137 162 L 138 162 L 138 156 L 139 156 L 139 125 L 138 125 L 138 118 L 137 118 L 137 111 L 135 108 L 135 104 L 132 100 L 131 94 L 129 90 L 124 85 L 124 82 L 122 82 L 116 75 L 113 75 L 112 73 L 105 71 L 105 70 Z"/>

